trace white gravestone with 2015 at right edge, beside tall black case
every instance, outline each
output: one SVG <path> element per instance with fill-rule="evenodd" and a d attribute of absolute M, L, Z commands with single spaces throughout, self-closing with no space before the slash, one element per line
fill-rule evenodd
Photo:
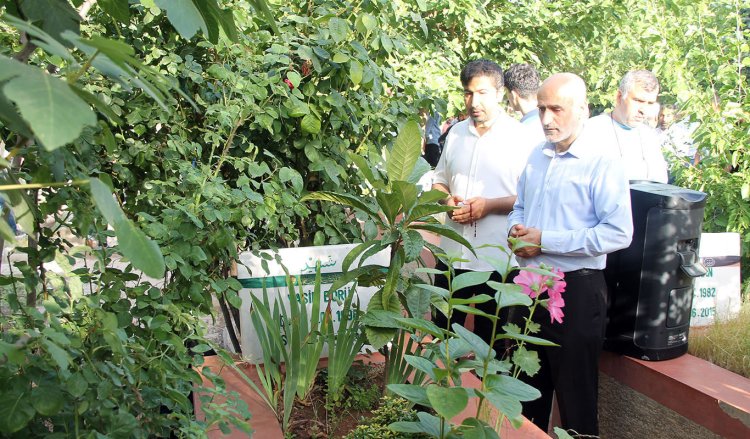
<path fill-rule="evenodd" d="M 727 320 L 740 311 L 740 235 L 702 233 L 698 250 L 708 269 L 693 284 L 690 326 L 708 326 L 714 320 Z"/>

